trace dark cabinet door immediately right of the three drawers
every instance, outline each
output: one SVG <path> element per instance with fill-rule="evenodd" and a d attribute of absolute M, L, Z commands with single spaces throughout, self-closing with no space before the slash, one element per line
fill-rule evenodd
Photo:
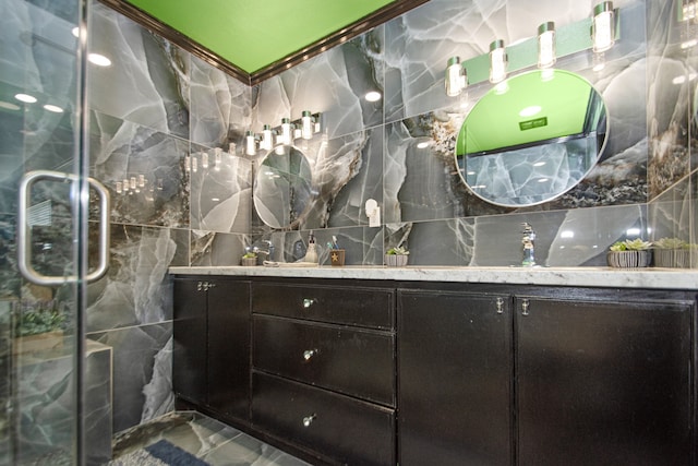
<path fill-rule="evenodd" d="M 510 298 L 398 291 L 400 465 L 512 463 Z"/>

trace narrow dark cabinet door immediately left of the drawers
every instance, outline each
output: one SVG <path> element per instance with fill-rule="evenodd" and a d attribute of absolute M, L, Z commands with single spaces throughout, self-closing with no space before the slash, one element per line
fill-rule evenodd
<path fill-rule="evenodd" d="M 208 280 L 208 406 L 239 420 L 250 410 L 250 283 Z"/>

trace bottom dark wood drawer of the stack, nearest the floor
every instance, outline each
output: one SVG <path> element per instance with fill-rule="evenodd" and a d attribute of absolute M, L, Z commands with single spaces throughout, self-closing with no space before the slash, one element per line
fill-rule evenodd
<path fill-rule="evenodd" d="M 254 372 L 255 428 L 349 465 L 395 464 L 395 411 Z"/>

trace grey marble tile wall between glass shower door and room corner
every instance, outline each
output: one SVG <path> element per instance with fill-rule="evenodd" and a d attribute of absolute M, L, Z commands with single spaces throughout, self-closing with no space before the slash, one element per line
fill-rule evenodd
<path fill-rule="evenodd" d="M 99 2 L 89 27 L 91 50 L 112 61 L 88 70 L 91 172 L 112 206 L 86 325 L 113 348 L 119 432 L 173 408 L 168 267 L 233 263 L 249 243 L 252 166 L 229 151 L 251 89 Z"/>

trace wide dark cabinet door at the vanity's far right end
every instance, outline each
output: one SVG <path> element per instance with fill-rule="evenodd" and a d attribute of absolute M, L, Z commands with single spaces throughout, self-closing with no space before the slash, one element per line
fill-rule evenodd
<path fill-rule="evenodd" d="M 690 302 L 515 309 L 519 464 L 690 464 Z"/>

